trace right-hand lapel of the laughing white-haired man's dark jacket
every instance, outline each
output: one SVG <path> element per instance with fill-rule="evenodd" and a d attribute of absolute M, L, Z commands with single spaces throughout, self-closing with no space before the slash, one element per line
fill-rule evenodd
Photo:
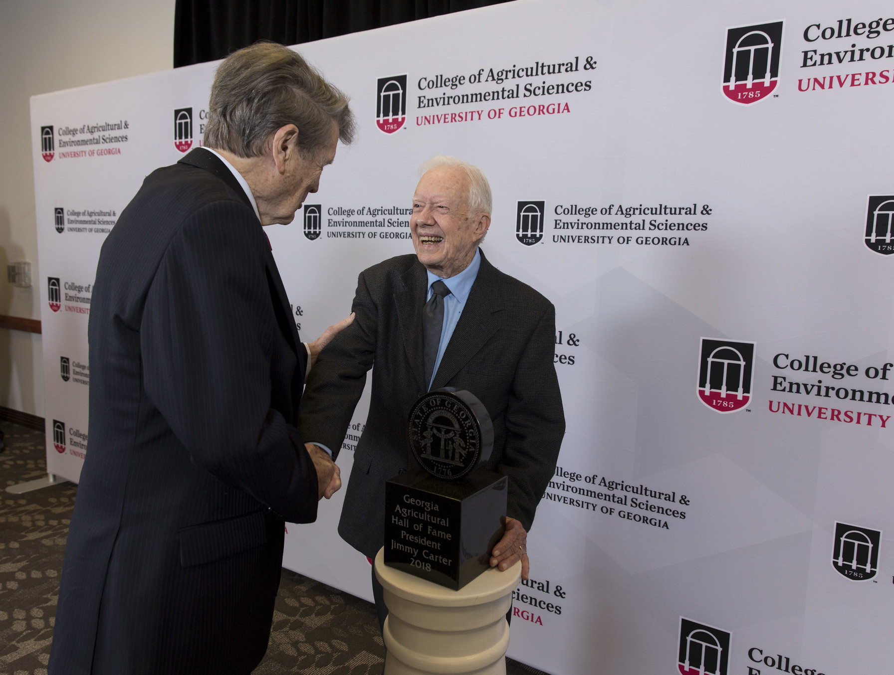
<path fill-rule="evenodd" d="M 451 378 L 468 363 L 497 331 L 493 312 L 502 309 L 502 287 L 496 269 L 481 254 L 481 268 L 472 289 L 468 293 L 466 306 L 460 314 L 453 335 L 444 350 L 441 364 L 434 376 L 432 388 L 446 386 Z M 420 320 L 421 322 L 421 320 Z M 420 352 L 421 354 L 421 352 Z M 421 356 L 420 356 L 421 361 Z"/>

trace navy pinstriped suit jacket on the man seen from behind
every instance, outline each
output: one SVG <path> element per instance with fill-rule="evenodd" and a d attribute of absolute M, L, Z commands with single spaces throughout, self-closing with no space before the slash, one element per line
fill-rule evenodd
<path fill-rule="evenodd" d="M 89 354 L 50 673 L 249 673 L 283 518 L 316 519 L 316 471 L 294 426 L 306 351 L 248 197 L 214 154 L 154 171 L 122 211 Z"/>

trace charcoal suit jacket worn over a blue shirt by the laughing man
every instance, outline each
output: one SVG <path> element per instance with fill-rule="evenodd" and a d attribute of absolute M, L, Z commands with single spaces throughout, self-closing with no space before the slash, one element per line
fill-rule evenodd
<path fill-rule="evenodd" d="M 481 268 L 434 377 L 434 389 L 477 396 L 493 418 L 487 468 L 510 477 L 509 515 L 526 529 L 555 471 L 565 433 L 552 365 L 555 310 L 534 288 Z M 320 353 L 301 404 L 301 435 L 337 451 L 373 368 L 369 416 L 354 454 L 339 534 L 373 557 L 384 543 L 384 482 L 409 468 L 407 418 L 427 391 L 422 307 L 428 278 L 416 255 L 360 273 L 357 317 Z"/>

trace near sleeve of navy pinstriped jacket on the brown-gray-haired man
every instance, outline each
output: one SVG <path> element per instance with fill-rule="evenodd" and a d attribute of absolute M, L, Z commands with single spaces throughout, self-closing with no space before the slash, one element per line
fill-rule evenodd
<path fill-rule="evenodd" d="M 288 521 L 312 522 L 316 470 L 298 429 L 271 409 L 280 329 L 259 227 L 222 201 L 173 237 L 140 325 L 144 385 L 192 462 Z"/>

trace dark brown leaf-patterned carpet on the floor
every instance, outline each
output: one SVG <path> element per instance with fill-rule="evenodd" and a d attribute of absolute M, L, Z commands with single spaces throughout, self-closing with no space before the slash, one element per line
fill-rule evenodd
<path fill-rule="evenodd" d="M 0 488 L 46 475 L 44 436 L 0 421 Z M 46 675 L 76 487 L 0 491 L 0 675 Z M 283 570 L 257 675 L 378 675 L 384 646 L 372 604 Z M 540 673 L 507 659 L 508 675 Z M 123 674 L 122 674 L 123 675 Z"/>

